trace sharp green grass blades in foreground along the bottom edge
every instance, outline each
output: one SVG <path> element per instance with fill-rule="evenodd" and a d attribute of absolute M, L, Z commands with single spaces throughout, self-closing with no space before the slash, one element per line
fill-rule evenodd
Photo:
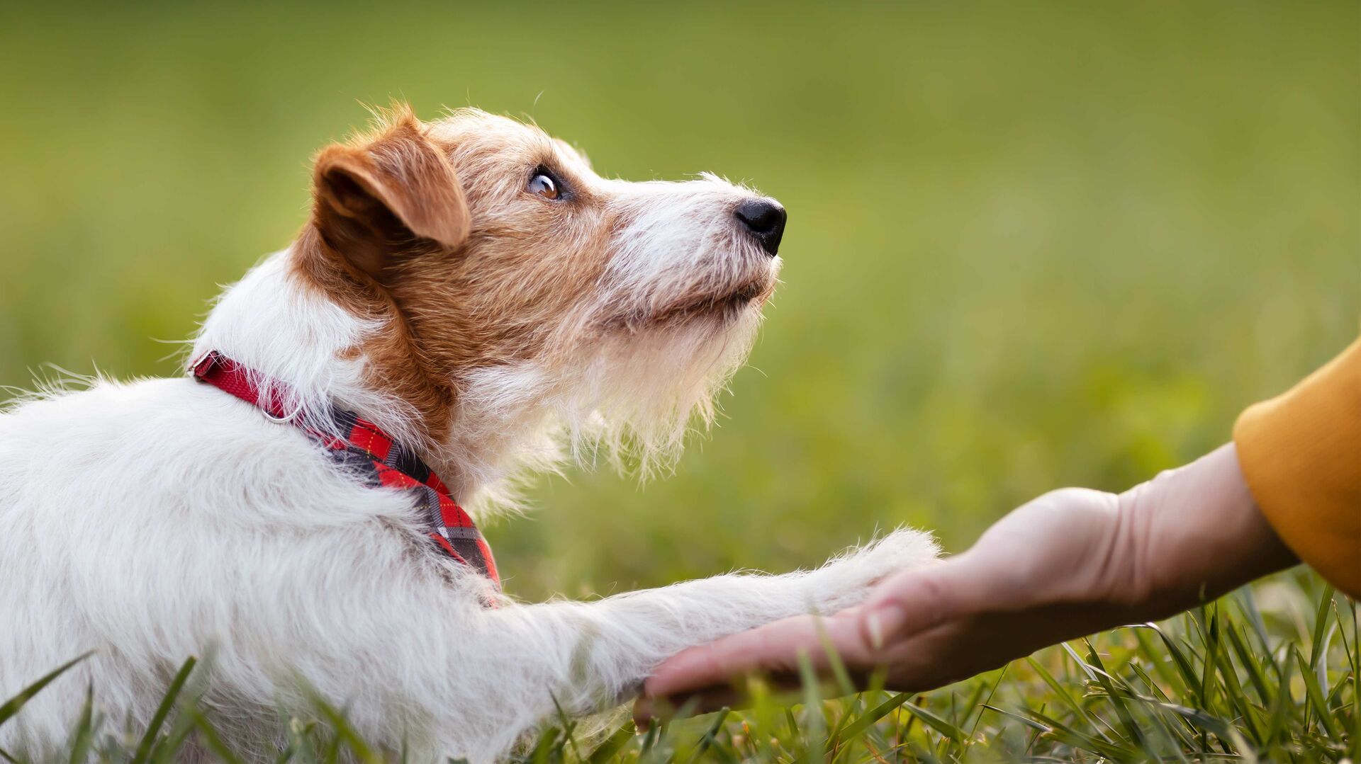
<path fill-rule="evenodd" d="M 1301 576 L 1302 578 L 1302 576 Z M 1302 594 L 1312 590 L 1312 598 Z M 1162 624 L 1131 625 L 1044 650 L 1003 670 L 924 695 L 866 692 L 838 700 L 807 684 L 700 718 L 632 722 L 581 734 L 548 726 L 517 759 L 589 761 L 1301 761 L 1356 759 L 1361 723 L 1356 604 L 1313 580 L 1278 582 L 1263 610 L 1240 590 Z M 235 761 L 192 688 L 195 661 L 171 680 L 146 730 L 127 730 L 87 704 L 71 761 L 176 761 L 196 744 Z M 37 689 L 49 677 L 39 680 Z M 827 693 L 826 691 L 832 692 Z M 0 725 L 24 696 L 0 706 Z M 284 725 L 280 761 L 401 761 L 363 741 L 344 711 L 314 700 Z M 612 729 L 612 731 L 610 731 Z M 12 760 L 8 753 L 0 753 Z"/>

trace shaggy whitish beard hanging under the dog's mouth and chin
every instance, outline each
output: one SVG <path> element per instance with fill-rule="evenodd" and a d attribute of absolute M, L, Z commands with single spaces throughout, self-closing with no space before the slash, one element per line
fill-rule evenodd
<path fill-rule="evenodd" d="M 517 511 L 534 473 L 603 458 L 645 479 L 680 455 L 691 426 L 746 360 L 757 305 L 723 318 L 595 334 L 569 358 L 482 370 L 468 379 L 448 453 L 475 515 Z"/>

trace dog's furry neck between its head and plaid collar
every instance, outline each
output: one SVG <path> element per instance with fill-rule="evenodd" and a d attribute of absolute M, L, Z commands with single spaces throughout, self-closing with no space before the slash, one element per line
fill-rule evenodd
<path fill-rule="evenodd" d="M 286 390 L 297 412 L 339 406 L 416 449 L 455 499 L 480 508 L 509 496 L 499 484 L 525 466 L 559 457 L 531 367 L 474 372 L 438 432 L 400 390 L 380 389 L 366 348 L 393 318 L 363 318 L 317 290 L 295 268 L 295 251 L 275 253 L 218 299 L 191 358 L 218 351 Z M 490 493 L 490 496 L 487 495 Z M 490 499 L 490 502 L 487 502 Z"/>

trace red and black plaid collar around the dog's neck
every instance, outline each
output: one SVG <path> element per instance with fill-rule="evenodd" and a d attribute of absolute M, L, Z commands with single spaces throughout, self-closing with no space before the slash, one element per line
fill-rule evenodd
<path fill-rule="evenodd" d="M 191 371 L 200 382 L 260 408 L 275 420 L 299 427 L 365 484 L 410 491 L 429 518 L 429 534 L 436 546 L 501 586 L 491 546 L 482 538 L 468 513 L 449 496 L 440 476 L 415 451 L 393 440 L 377 424 L 332 406 L 328 415 L 335 428 L 331 432 L 309 427 L 304 417 L 287 415 L 278 386 L 271 385 L 268 393 L 263 392 L 259 374 L 216 351 L 195 362 Z M 333 432 L 342 436 L 338 438 Z"/>

